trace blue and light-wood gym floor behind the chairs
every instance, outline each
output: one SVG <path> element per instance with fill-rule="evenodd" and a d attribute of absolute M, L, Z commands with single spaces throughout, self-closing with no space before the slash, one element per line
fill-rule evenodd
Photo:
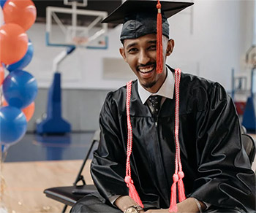
<path fill-rule="evenodd" d="M 43 190 L 72 185 L 93 135 L 94 132 L 66 136 L 26 134 L 10 147 L 2 163 L 0 207 L 12 213 L 61 212 L 64 205 L 47 198 Z M 256 139 L 255 134 L 251 135 Z M 88 160 L 83 170 L 88 184 L 92 184 L 90 163 Z M 256 170 L 256 162 L 252 169 Z"/>

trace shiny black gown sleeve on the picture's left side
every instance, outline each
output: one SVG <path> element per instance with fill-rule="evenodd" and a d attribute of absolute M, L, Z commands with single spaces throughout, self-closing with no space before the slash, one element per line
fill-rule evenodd
<path fill-rule="evenodd" d="M 99 126 L 101 135 L 91 162 L 91 177 L 99 194 L 108 201 L 114 195 L 129 194 L 124 182 L 126 152 L 122 145 L 118 107 L 113 101 L 113 93 L 108 93 L 102 107 Z"/>

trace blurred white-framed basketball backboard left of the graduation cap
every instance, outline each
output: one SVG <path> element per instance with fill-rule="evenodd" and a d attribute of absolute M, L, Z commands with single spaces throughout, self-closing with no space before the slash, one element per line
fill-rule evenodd
<path fill-rule="evenodd" d="M 72 8 L 46 8 L 46 44 L 48 46 L 78 46 L 93 49 L 108 48 L 108 25 L 101 23 L 108 12 L 78 9 L 87 1 L 64 0 Z"/>

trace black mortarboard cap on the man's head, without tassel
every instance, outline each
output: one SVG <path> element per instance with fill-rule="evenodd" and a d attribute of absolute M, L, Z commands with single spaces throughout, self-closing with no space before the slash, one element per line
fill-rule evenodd
<path fill-rule="evenodd" d="M 162 7 L 162 34 L 169 37 L 167 18 L 191 6 L 192 2 L 160 1 Z M 115 9 L 102 23 L 123 23 L 120 39 L 135 39 L 157 33 L 157 1 L 127 0 Z"/>

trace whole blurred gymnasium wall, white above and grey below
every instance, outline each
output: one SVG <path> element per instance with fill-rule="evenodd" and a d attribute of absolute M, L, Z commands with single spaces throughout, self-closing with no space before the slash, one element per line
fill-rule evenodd
<path fill-rule="evenodd" d="M 252 44 L 255 1 L 194 2 L 193 8 L 169 20 L 170 37 L 176 45 L 167 63 L 181 71 L 218 81 L 230 90 L 231 69 L 244 69 L 244 54 Z M 118 26 L 109 31 L 108 50 L 78 49 L 60 66 L 64 88 L 63 116 L 72 123 L 73 131 L 96 129 L 99 110 L 108 91 L 135 79 L 118 53 L 120 29 Z M 42 23 L 35 23 L 28 34 L 35 50 L 26 70 L 34 74 L 39 83 L 36 112 L 28 128 L 34 131 L 35 120 L 46 108 L 53 58 L 64 47 L 46 47 L 45 25 Z M 116 69 L 106 64 L 116 64 Z"/>

